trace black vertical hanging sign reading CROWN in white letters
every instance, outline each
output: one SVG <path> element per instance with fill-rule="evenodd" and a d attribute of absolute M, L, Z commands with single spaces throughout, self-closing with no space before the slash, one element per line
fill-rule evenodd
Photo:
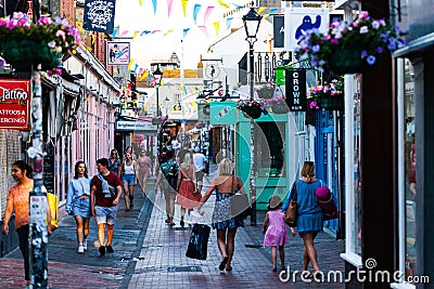
<path fill-rule="evenodd" d="M 286 105 L 291 111 L 306 111 L 306 69 L 285 71 Z"/>

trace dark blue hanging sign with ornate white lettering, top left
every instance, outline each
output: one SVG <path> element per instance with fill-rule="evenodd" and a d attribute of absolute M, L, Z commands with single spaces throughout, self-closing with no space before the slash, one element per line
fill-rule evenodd
<path fill-rule="evenodd" d="M 115 0 L 86 0 L 85 23 L 86 30 L 112 34 L 115 22 Z"/>

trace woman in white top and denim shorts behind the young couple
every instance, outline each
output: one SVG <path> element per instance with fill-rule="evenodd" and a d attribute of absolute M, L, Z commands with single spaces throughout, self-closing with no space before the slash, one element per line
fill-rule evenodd
<path fill-rule="evenodd" d="M 135 186 L 137 185 L 136 160 L 132 160 L 130 153 L 125 154 L 119 176 L 124 185 L 125 211 L 128 212 L 135 207 Z"/>

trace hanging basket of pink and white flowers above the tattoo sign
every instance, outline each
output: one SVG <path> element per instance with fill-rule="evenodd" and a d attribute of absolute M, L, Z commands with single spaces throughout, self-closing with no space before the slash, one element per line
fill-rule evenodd
<path fill-rule="evenodd" d="M 63 54 L 75 53 L 78 31 L 65 19 L 40 17 L 35 24 L 22 12 L 0 18 L 2 57 L 17 68 L 28 69 L 42 64 L 43 69 L 59 66 Z"/>

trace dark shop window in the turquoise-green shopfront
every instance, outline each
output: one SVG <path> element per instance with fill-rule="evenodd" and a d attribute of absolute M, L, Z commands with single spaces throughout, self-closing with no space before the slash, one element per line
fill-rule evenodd
<path fill-rule="evenodd" d="M 256 131 L 256 163 L 259 176 L 279 178 L 284 173 L 285 122 L 258 122 Z"/>

